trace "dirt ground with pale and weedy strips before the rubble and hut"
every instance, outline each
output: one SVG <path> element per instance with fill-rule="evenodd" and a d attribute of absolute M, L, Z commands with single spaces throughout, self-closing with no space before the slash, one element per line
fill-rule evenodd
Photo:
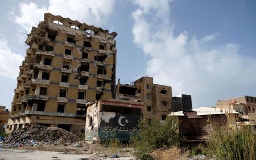
<path fill-rule="evenodd" d="M 81 147 L 75 147 L 80 144 Z M 100 144 L 87 144 L 75 142 L 66 145 L 38 145 L 30 147 L 18 147 L 13 149 L 0 149 L 2 159 L 113 159 L 110 155 L 117 154 L 115 159 L 135 159 L 133 149 L 127 147 L 104 147 Z"/>

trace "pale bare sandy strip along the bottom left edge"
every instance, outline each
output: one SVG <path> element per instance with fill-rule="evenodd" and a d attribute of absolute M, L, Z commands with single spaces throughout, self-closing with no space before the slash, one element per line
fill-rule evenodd
<path fill-rule="evenodd" d="M 2 159 L 52 159 L 52 160 L 65 160 L 65 159 L 113 159 L 109 158 L 106 154 L 69 154 L 66 152 L 49 152 L 39 150 L 27 149 L 0 149 L 0 160 Z M 114 159 L 134 159 L 132 156 L 120 155 Z"/>

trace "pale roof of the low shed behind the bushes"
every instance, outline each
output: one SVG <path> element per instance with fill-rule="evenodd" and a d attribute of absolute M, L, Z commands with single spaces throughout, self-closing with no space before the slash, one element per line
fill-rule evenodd
<path fill-rule="evenodd" d="M 199 108 L 188 110 L 188 111 L 196 111 L 196 115 L 213 115 L 213 114 L 225 114 L 225 113 L 239 114 L 235 110 L 216 109 L 215 107 L 199 107 Z M 187 111 L 185 111 L 185 112 L 187 112 Z M 183 111 L 174 112 L 169 115 L 184 116 Z"/>

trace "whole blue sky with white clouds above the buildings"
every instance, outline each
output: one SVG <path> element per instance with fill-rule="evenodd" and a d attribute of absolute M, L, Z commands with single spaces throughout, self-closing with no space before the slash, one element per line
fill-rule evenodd
<path fill-rule="evenodd" d="M 117 32 L 117 79 L 191 94 L 193 108 L 256 96 L 254 0 L 0 1 L 0 105 L 11 107 L 31 27 L 45 12 Z"/>

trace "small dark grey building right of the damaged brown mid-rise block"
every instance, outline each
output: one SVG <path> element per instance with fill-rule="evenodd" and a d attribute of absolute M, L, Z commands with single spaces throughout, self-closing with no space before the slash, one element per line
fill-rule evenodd
<path fill-rule="evenodd" d="M 172 112 L 192 110 L 191 95 L 180 94 L 172 97 Z"/>

